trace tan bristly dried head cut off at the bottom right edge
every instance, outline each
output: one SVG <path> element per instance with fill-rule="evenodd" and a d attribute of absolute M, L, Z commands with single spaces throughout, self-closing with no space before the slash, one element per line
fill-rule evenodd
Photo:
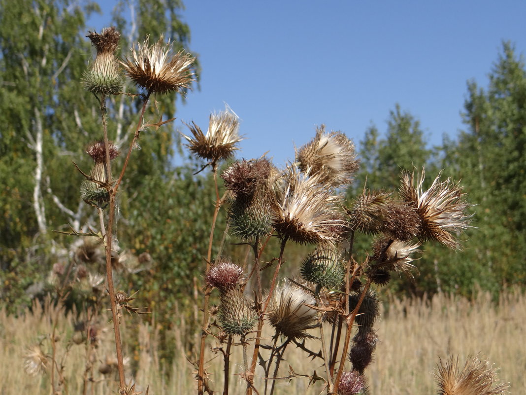
<path fill-rule="evenodd" d="M 495 370 L 479 356 L 468 357 L 462 370 L 451 356 L 445 365 L 440 360 L 437 370 L 439 395 L 502 395 L 508 389 L 507 384 L 494 384 Z"/>

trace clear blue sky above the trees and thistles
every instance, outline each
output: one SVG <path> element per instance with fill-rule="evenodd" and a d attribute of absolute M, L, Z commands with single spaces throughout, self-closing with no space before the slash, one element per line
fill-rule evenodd
<path fill-rule="evenodd" d="M 89 27 L 107 26 L 114 3 Z M 526 50 L 524 1 L 184 3 L 203 72 L 177 126 L 193 120 L 206 130 L 210 112 L 228 103 L 246 137 L 238 157 L 269 151 L 276 164 L 322 123 L 358 145 L 371 123 L 386 130 L 395 103 L 440 144 L 463 128 L 466 82 L 487 85 L 502 40 Z"/>

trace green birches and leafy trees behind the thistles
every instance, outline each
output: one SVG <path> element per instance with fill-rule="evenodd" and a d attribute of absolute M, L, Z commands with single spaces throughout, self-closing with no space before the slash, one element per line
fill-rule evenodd
<path fill-rule="evenodd" d="M 99 246 L 65 234 L 88 232 L 98 221 L 80 196 L 83 176 L 73 162 L 86 169 L 86 145 L 102 138 L 96 102 L 80 88 L 92 58 L 86 18 L 98 6 L 76 4 L 0 1 L 0 303 L 13 312 L 45 294 L 56 274 L 73 262 L 104 262 L 97 261 Z M 114 13 L 114 24 L 123 32 L 120 48 L 148 34 L 151 40 L 164 34 L 189 48 L 190 30 L 179 17 L 179 0 L 134 4 L 133 24 L 123 16 L 124 2 Z M 415 281 L 397 279 L 391 289 L 470 295 L 479 288 L 498 292 L 526 284 L 526 68 L 513 44 L 504 42 L 488 72 L 488 81 L 467 83 L 459 108 L 464 128 L 441 146 L 430 147 L 418 114 L 398 104 L 388 113 L 387 129 L 373 125 L 355 142 L 361 167 L 347 191 L 349 204 L 363 187 L 391 189 L 402 170 L 422 166 L 429 174 L 442 171 L 461 180 L 473 204 L 473 228 L 461 235 L 464 251 L 427 244 L 416 263 L 420 275 Z M 117 146 L 129 142 L 128 125 L 137 110 L 123 96 L 110 103 L 110 114 L 116 115 L 109 118 L 108 130 Z M 163 119 L 175 116 L 178 103 L 171 96 L 157 98 Z M 158 118 L 151 111 L 147 118 Z M 433 125 L 424 127 L 432 130 Z M 210 173 L 198 172 L 204 163 L 185 156 L 174 126 L 146 133 L 119 196 L 115 261 L 119 287 L 140 289 L 140 298 L 164 314 L 201 284 L 215 191 Z M 176 156 L 182 165 L 174 164 Z M 219 240 L 225 224 L 220 218 Z M 230 241 L 236 240 L 225 243 Z M 357 243 L 367 250 L 367 240 Z"/>

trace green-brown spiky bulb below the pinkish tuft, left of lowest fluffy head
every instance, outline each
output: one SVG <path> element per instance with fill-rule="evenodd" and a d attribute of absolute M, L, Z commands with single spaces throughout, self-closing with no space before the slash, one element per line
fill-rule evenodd
<path fill-rule="evenodd" d="M 237 288 L 221 293 L 217 318 L 221 329 L 232 335 L 247 334 L 258 320 L 251 303 Z"/>

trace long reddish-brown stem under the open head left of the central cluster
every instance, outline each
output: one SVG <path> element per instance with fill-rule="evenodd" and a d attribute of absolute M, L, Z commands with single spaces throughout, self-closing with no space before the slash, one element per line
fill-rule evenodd
<path fill-rule="evenodd" d="M 214 216 L 212 218 L 212 226 L 210 228 L 210 237 L 208 239 L 208 253 L 206 255 L 206 272 L 210 270 L 210 260 L 212 258 L 212 244 L 214 241 L 214 230 L 216 229 L 217 215 L 221 208 L 222 199 L 219 197 L 219 187 L 217 185 L 217 167 L 215 164 L 212 165 L 212 171 L 214 174 L 214 185 L 216 189 L 216 205 L 214 209 Z M 201 344 L 199 348 L 199 367 L 197 372 L 197 393 L 203 395 L 204 393 L 204 374 L 205 374 L 205 347 L 206 337 L 208 335 L 206 328 L 208 327 L 208 301 L 210 300 L 210 287 L 205 288 L 205 300 L 203 301 L 203 325 L 201 325 Z"/>

